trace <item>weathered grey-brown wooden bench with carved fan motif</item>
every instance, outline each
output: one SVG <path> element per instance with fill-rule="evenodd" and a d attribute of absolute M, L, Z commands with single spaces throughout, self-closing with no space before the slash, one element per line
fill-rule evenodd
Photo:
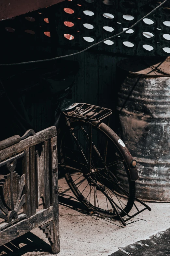
<path fill-rule="evenodd" d="M 56 135 L 50 127 L 0 142 L 0 246 L 39 227 L 59 253 Z"/>

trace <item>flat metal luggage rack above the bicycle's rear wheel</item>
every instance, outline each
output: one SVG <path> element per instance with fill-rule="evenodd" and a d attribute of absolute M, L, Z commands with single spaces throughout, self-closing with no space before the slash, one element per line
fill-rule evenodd
<path fill-rule="evenodd" d="M 68 110 L 66 110 L 63 111 L 63 113 L 67 118 L 73 118 L 87 122 L 98 122 L 111 115 L 112 111 L 110 109 L 86 103 L 78 103 L 73 111 L 68 112 Z"/>

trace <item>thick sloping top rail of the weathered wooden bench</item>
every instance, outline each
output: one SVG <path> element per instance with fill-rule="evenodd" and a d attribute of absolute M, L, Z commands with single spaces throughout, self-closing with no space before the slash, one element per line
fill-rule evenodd
<path fill-rule="evenodd" d="M 49 140 L 50 138 L 56 136 L 56 127 L 52 126 L 45 130 L 39 131 L 35 136 L 28 137 L 21 140 L 19 143 L 12 145 L 6 149 L 0 150 L 0 161 L 15 155 L 28 147 L 32 147 L 38 143 Z"/>

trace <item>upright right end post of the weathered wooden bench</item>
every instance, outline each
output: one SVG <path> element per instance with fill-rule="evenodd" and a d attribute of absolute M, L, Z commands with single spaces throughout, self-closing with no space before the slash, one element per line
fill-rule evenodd
<path fill-rule="evenodd" d="M 50 177 L 51 177 L 51 203 L 53 206 L 53 238 L 54 243 L 51 245 L 53 253 L 60 252 L 59 238 L 59 212 L 58 212 L 58 169 L 57 169 L 57 137 L 50 139 Z"/>

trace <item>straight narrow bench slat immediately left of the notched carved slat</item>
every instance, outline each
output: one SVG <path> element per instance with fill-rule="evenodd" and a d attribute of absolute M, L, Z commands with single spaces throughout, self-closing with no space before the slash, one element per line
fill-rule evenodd
<path fill-rule="evenodd" d="M 36 213 L 36 189 L 35 189 L 35 146 L 30 147 L 30 199 L 31 215 Z"/>

